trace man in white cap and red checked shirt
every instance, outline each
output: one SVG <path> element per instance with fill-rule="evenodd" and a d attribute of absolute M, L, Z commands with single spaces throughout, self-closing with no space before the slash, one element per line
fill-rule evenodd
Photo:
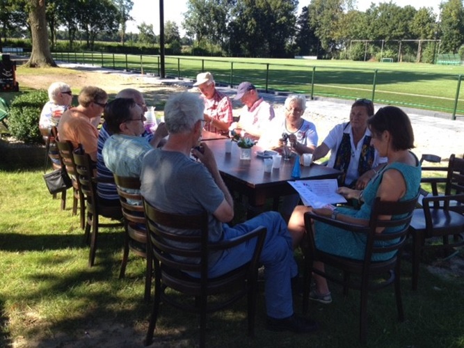
<path fill-rule="evenodd" d="M 198 86 L 205 101 L 205 130 L 213 133 L 229 132 L 232 123 L 232 102 L 227 95 L 216 90 L 211 72 L 201 72 L 193 86 Z"/>

